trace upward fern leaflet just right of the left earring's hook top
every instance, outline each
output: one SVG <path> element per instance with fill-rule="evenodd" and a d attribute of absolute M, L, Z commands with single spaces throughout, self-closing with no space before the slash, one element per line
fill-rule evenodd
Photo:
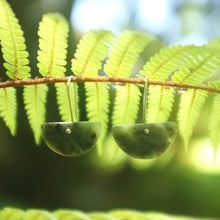
<path fill-rule="evenodd" d="M 80 76 L 98 75 L 113 39 L 113 33 L 107 30 L 92 30 L 84 35 L 77 46 L 75 58 L 72 59 L 74 74 Z"/>

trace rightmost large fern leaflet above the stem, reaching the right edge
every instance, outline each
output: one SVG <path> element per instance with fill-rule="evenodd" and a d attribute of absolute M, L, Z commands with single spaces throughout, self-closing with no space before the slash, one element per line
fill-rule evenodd
<path fill-rule="evenodd" d="M 199 85 L 205 81 L 220 66 L 219 48 L 197 47 L 172 76 L 172 80 L 182 84 Z"/>

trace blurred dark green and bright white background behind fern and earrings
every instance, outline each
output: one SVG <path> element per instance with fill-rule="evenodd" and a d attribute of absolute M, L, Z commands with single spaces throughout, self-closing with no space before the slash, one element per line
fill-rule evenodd
<path fill-rule="evenodd" d="M 163 45 L 199 45 L 220 36 L 220 1 L 217 0 L 8 2 L 25 33 L 32 77 L 39 76 L 37 29 L 47 12 L 60 12 L 71 22 L 69 61 L 81 35 L 92 28 L 103 27 L 116 34 L 123 29 L 149 31 L 158 36 Z M 152 51 L 157 50 L 155 45 Z M 2 56 L 0 63 L 3 63 Z M 0 76 L 7 80 L 4 73 L 0 65 Z M 206 102 L 187 153 L 181 138 L 177 137 L 171 149 L 159 159 L 127 159 L 117 163 L 107 162 L 105 157 L 97 160 L 94 152 L 79 158 L 65 158 L 51 152 L 44 143 L 36 146 L 22 104 L 22 88 L 17 91 L 16 137 L 10 135 L 0 119 L 0 208 L 132 208 L 220 218 L 220 158 L 213 163 L 213 151 L 207 139 L 210 101 Z M 82 119 L 86 119 L 84 112 L 82 107 Z M 173 117 L 175 120 L 175 110 Z M 59 120 L 55 90 L 51 86 L 47 121 Z"/>

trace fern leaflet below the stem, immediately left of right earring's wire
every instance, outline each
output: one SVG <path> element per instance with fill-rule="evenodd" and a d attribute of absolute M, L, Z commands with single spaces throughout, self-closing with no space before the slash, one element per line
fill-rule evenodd
<path fill-rule="evenodd" d="M 112 123 L 134 124 L 139 110 L 140 90 L 136 85 L 127 83 L 116 90 Z"/>

